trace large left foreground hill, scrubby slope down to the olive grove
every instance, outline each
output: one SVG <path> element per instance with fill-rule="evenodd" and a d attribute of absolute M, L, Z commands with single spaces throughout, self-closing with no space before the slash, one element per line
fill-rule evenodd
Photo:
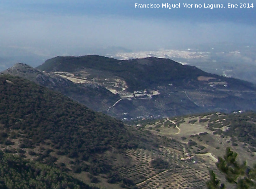
<path fill-rule="evenodd" d="M 67 174 L 67 182 L 82 182 L 81 188 L 84 183 L 116 189 L 205 187 L 213 164 L 200 157 L 197 163 L 183 161 L 182 141 L 138 131 L 19 77 L 2 75 L 0 90 L 0 147 L 4 157 L 21 158 L 13 160 L 21 168 L 10 179 L 22 172 L 26 182 L 34 182 L 38 162 Z M 5 159 L 0 163 L 7 166 Z"/>

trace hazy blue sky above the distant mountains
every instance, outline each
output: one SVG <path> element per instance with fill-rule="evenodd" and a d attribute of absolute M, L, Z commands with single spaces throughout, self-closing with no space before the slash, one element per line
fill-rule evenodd
<path fill-rule="evenodd" d="M 135 3 L 159 4 L 160 8 L 135 8 Z M 180 3 L 181 7 L 162 8 L 162 3 Z M 202 4 L 202 8 L 182 8 L 183 3 Z M 228 3 L 254 6 L 227 8 Z M 225 8 L 204 8 L 204 4 Z M 1 0 L 0 70 L 9 60 L 28 58 L 29 64 L 36 65 L 63 55 L 188 48 L 216 42 L 255 44 L 255 18 L 255 0 Z"/>

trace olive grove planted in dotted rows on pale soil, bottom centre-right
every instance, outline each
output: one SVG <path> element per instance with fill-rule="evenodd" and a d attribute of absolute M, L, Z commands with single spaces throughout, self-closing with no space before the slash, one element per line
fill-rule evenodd
<path fill-rule="evenodd" d="M 127 155 L 132 157 L 137 166 L 133 166 L 128 171 L 122 172 L 130 175 L 130 178 L 139 178 L 136 181 L 138 188 L 203 188 L 205 181 L 209 179 L 207 169 L 203 163 L 193 164 L 184 163 L 181 158 L 184 153 L 172 148 L 162 148 L 162 154 L 156 152 L 144 151 L 127 151 Z M 169 164 L 166 169 L 155 169 L 152 167 L 152 161 L 159 161 L 158 166 L 162 163 Z M 206 167 L 205 167 L 206 168 Z M 203 169 L 204 170 L 204 169 Z M 136 174 L 135 174 L 136 173 Z"/>

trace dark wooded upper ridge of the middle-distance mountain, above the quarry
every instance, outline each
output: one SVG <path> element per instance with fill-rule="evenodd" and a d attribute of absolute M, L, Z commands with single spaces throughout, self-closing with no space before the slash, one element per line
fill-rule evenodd
<path fill-rule="evenodd" d="M 204 72 L 194 66 L 181 65 L 170 59 L 145 58 L 133 60 L 116 60 L 98 55 L 80 57 L 55 57 L 38 66 L 37 69 L 47 72 L 76 72 L 86 68 L 107 72 L 125 78 L 128 91 L 144 90 L 170 83 L 190 88 L 196 85 L 199 76 L 223 77 Z M 228 78 L 225 78 L 229 80 Z M 239 81 L 239 80 L 236 80 Z M 251 87 L 248 82 L 242 82 L 245 87 Z M 233 83 L 235 85 L 235 82 Z"/>

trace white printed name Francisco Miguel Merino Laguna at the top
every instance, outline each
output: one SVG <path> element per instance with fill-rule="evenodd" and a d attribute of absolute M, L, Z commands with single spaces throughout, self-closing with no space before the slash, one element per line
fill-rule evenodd
<path fill-rule="evenodd" d="M 181 3 L 179 4 L 168 4 L 168 3 L 162 3 L 162 8 L 168 8 L 168 9 L 172 9 L 172 8 L 180 8 Z M 182 8 L 202 8 L 202 4 L 187 4 L 187 3 L 182 3 Z M 135 3 L 135 8 L 160 8 L 160 4 L 138 4 Z M 204 7 L 203 8 L 224 8 L 223 4 L 205 4 L 204 3 Z"/>

